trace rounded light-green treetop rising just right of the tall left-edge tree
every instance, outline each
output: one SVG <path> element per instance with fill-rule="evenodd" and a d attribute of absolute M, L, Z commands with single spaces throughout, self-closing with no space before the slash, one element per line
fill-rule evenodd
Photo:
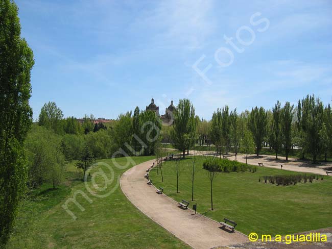
<path fill-rule="evenodd" d="M 41 108 L 38 124 L 60 134 L 63 132 L 62 119 L 62 110 L 54 102 L 49 102 Z"/>

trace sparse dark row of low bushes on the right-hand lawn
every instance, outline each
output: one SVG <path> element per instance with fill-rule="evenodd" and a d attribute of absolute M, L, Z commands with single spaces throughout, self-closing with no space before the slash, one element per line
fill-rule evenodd
<path fill-rule="evenodd" d="M 277 175 L 277 176 L 263 176 L 259 177 L 258 182 L 276 184 L 277 186 L 288 186 L 295 185 L 297 183 L 312 183 L 314 180 L 323 180 L 322 176 L 318 175 L 307 175 L 307 174 L 297 174 L 297 175 Z"/>

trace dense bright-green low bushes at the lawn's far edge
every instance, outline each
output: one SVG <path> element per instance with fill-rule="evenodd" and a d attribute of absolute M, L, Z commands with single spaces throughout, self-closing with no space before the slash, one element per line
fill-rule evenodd
<path fill-rule="evenodd" d="M 213 166 L 212 166 L 213 165 Z M 214 168 L 214 171 L 218 172 L 256 172 L 257 167 L 240 163 L 238 161 L 230 161 L 227 159 L 214 158 L 212 160 L 205 160 L 203 162 L 203 168 L 209 170 Z"/>

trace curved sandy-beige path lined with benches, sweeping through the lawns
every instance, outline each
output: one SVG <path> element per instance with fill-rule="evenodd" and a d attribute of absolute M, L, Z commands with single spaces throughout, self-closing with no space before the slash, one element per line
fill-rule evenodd
<path fill-rule="evenodd" d="M 183 210 L 164 194 L 157 194 L 144 178 L 154 160 L 138 164 L 127 170 L 121 178 L 121 188 L 129 201 L 141 212 L 194 248 L 211 248 L 248 242 L 242 233 L 228 233 L 219 223 L 192 210 Z"/>

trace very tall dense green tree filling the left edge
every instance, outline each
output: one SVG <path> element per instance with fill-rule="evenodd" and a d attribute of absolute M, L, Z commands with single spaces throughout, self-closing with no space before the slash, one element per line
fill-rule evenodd
<path fill-rule="evenodd" d="M 0 247 L 8 239 L 25 189 L 23 142 L 32 123 L 30 72 L 33 52 L 20 37 L 18 8 L 0 1 Z"/>

